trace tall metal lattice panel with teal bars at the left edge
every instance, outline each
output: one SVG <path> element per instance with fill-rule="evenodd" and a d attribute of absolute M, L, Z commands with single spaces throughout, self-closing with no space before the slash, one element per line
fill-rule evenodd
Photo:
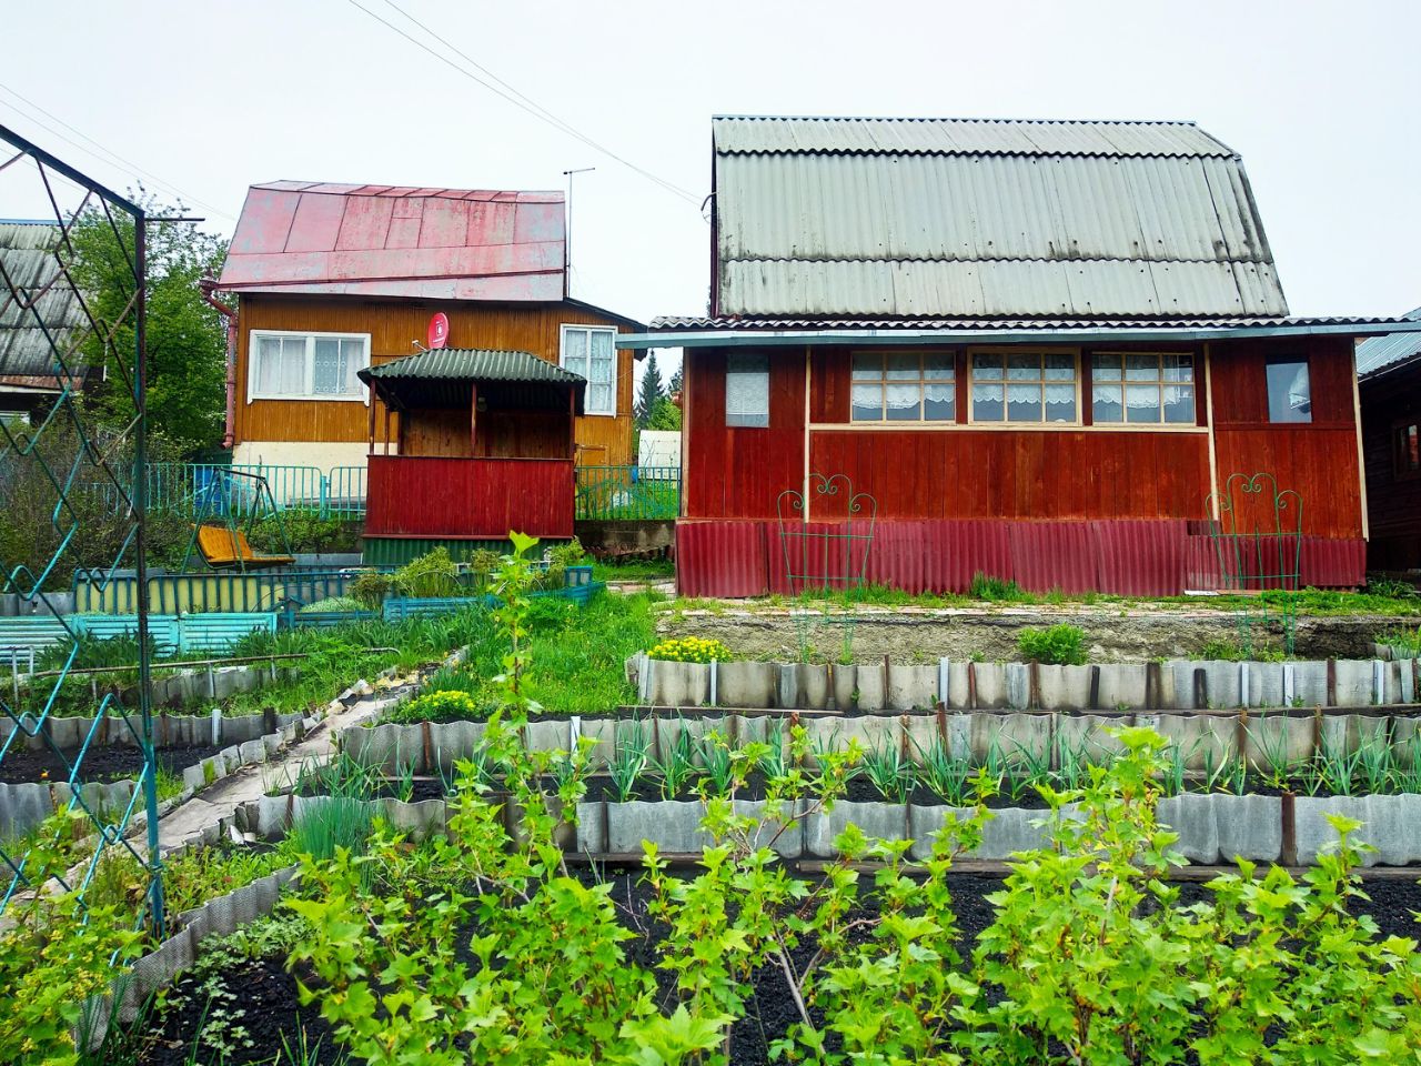
<path fill-rule="evenodd" d="M 34 212 L 45 217 L 23 242 L 23 254 L 0 250 L 0 351 L 27 352 L 44 397 L 28 418 L 0 418 L 0 493 L 6 506 L 24 506 L 37 520 L 34 543 L 0 542 L 0 593 L 13 597 L 20 614 L 54 615 L 67 641 L 53 677 L 21 674 L 0 657 L 0 769 L 27 750 L 48 753 L 61 768 L 45 795 L 57 812 L 87 826 L 72 866 L 40 866 L 36 854 L 53 853 L 40 833 L 53 822 L 0 826 L 0 910 L 18 894 L 61 891 L 84 895 L 102 863 L 126 853 L 145 871 L 148 890 L 136 922 L 163 925 L 162 877 L 158 857 L 156 759 L 151 715 L 152 641 L 148 634 L 145 544 L 146 463 L 146 263 L 145 229 L 153 219 L 132 200 L 104 188 L 61 159 L 0 126 L 0 216 Z M 20 205 L 20 210 L 16 210 Z M 84 237 L 81 240 L 81 236 Z M 85 250 L 88 249 L 88 250 Z M 95 297 L 94 267 L 102 249 L 105 277 L 117 284 Z M 88 259 L 88 262 L 85 262 Z M 114 291 L 109 291 L 114 290 Z M 99 415 L 97 412 L 102 411 Z M 109 503 L 95 507 L 88 488 L 101 483 Z M 21 503 L 23 497 L 23 503 Z M 101 517 L 99 517 L 101 516 Z M 125 705 L 105 695 L 90 714 L 94 728 L 68 738 L 57 729 L 58 712 L 78 687 L 71 671 L 82 664 L 85 637 L 63 611 L 81 551 L 92 557 L 104 523 L 102 561 L 136 571 L 138 696 Z M 92 527 L 91 527 L 92 526 Z M 3 640 L 3 637 L 0 637 Z M 88 691 L 88 689 L 81 689 Z M 126 729 L 142 753 L 142 768 L 126 802 L 114 803 L 111 790 L 97 787 L 85 768 L 97 738 L 108 726 Z M 146 814 L 146 847 L 131 837 L 139 814 Z M 33 813 L 33 812 L 31 812 Z M 43 812 L 41 812 L 43 813 Z M 7 839 L 6 839 L 7 837 Z M 92 846 L 92 853 L 90 853 Z"/>

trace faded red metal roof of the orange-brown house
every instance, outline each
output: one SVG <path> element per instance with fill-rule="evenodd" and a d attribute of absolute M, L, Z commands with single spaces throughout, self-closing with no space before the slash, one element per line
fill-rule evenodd
<path fill-rule="evenodd" d="M 561 192 L 253 185 L 219 289 L 433 300 L 563 298 Z"/>

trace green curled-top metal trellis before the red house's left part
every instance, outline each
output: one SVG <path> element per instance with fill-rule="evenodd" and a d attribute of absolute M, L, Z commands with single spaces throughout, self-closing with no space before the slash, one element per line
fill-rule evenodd
<path fill-rule="evenodd" d="M 833 520 L 811 520 L 816 503 L 837 510 L 834 505 L 840 502 L 841 517 L 834 515 Z M 807 603 L 793 611 L 800 658 L 813 658 L 817 651 L 816 631 L 826 624 L 841 627 L 841 658 L 851 658 L 854 627 L 868 583 L 868 554 L 878 522 L 878 500 L 867 492 L 855 492 L 848 475 L 810 473 L 803 489 L 784 489 L 774 499 L 774 516 L 790 594 L 801 601 L 837 591 L 848 597 L 848 608 L 844 611 L 833 611 L 827 603 L 818 611 Z"/>

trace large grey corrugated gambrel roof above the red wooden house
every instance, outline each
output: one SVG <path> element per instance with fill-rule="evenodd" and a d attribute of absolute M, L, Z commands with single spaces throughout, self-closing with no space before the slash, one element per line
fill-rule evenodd
<path fill-rule="evenodd" d="M 1242 162 L 1191 122 L 712 129 L 720 317 L 1287 314 Z"/>

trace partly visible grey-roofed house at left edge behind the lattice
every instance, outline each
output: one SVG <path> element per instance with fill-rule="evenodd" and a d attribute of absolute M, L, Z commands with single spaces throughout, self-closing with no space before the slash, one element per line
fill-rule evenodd
<path fill-rule="evenodd" d="M 84 303 L 54 260 L 54 222 L 0 220 L 0 271 L 18 294 L 0 298 L 0 411 L 31 412 L 88 372 L 78 345 L 90 328 Z"/>

